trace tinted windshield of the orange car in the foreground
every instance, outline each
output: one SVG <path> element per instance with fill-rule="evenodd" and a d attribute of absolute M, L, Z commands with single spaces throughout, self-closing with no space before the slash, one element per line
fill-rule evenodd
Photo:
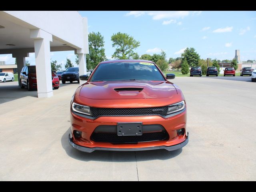
<path fill-rule="evenodd" d="M 165 81 L 150 62 L 112 62 L 100 64 L 90 81 L 155 80 Z"/>

